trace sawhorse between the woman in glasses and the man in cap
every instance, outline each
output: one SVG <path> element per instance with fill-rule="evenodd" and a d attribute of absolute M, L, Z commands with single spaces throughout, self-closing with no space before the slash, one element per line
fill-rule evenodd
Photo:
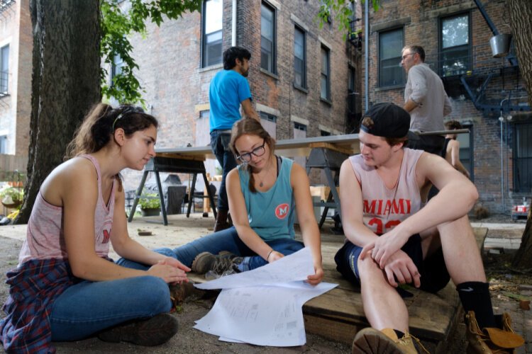
<path fill-rule="evenodd" d="M 340 167 L 342 166 L 343 161 L 348 158 L 349 154 L 348 152 L 339 151 L 332 146 L 328 146 L 328 144 L 316 144 L 314 146 L 311 145 L 311 147 L 312 149 L 309 159 L 306 161 L 306 174 L 309 175 L 312 168 L 323 169 L 327 178 L 327 183 L 331 188 L 325 202 L 314 203 L 315 207 L 324 207 L 319 222 L 319 228 L 321 229 L 330 207 L 336 207 L 341 219 L 340 196 L 338 195 L 338 190 L 336 190 L 336 185 L 338 183 Z M 336 173 L 336 176 L 334 177 L 333 171 Z"/>

